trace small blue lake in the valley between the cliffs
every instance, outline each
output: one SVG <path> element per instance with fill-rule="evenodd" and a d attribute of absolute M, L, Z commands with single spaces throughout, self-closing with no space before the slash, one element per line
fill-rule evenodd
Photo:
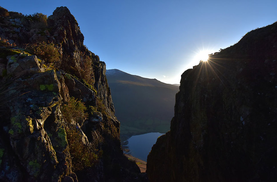
<path fill-rule="evenodd" d="M 156 143 L 157 138 L 163 133 L 146 133 L 142 135 L 131 136 L 128 139 L 127 146 L 130 149 L 131 155 L 143 161 L 147 161 L 147 156 Z"/>

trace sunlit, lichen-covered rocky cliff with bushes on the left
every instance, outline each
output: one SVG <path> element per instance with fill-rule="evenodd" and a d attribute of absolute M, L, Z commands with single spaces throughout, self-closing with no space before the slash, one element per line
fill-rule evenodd
<path fill-rule="evenodd" d="M 105 63 L 67 7 L 0 15 L 0 181 L 143 181 L 121 150 Z"/>

